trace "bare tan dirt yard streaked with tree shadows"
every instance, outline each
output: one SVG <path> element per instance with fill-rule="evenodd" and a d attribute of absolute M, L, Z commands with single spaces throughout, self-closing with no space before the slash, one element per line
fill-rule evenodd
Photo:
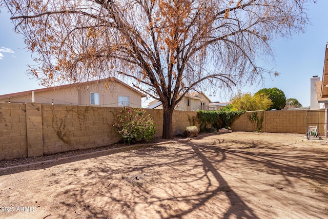
<path fill-rule="evenodd" d="M 328 145 L 233 132 L 2 169 L 0 207 L 0 218 L 328 218 Z"/>

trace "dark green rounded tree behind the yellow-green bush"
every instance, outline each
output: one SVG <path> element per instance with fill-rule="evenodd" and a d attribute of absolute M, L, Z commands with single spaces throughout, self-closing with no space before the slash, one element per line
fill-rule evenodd
<path fill-rule="evenodd" d="M 263 88 L 257 91 L 255 94 L 266 94 L 268 95 L 269 99 L 272 101 L 271 109 L 281 110 L 286 105 L 286 96 L 282 90 L 278 88 Z"/>

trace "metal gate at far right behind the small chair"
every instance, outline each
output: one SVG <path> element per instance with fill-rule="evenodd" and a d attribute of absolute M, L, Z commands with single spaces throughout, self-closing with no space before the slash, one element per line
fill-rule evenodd
<path fill-rule="evenodd" d="M 326 110 L 306 110 L 306 133 L 310 126 L 316 126 L 319 137 L 326 136 Z"/>

